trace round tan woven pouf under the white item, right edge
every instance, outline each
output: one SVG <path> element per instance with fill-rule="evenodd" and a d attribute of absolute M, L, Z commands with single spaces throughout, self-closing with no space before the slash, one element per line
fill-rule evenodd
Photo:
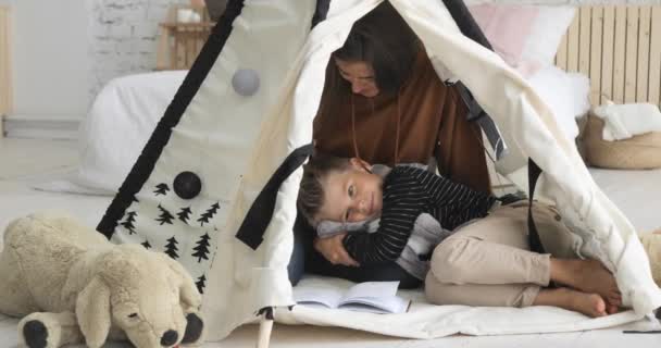
<path fill-rule="evenodd" d="M 602 138 L 603 121 L 588 114 L 581 137 L 588 164 L 608 169 L 645 170 L 661 167 L 661 132 L 651 132 L 625 140 Z"/>

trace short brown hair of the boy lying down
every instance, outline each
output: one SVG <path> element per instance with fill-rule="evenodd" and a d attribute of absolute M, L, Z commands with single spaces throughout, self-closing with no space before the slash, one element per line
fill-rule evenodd
<path fill-rule="evenodd" d="M 317 223 L 314 216 L 319 214 L 325 198 L 322 182 L 328 173 L 344 172 L 350 167 L 351 162 L 349 159 L 329 154 L 314 154 L 303 165 L 303 178 L 301 179 L 296 203 L 298 211 L 303 214 L 303 217 L 313 227 Z"/>

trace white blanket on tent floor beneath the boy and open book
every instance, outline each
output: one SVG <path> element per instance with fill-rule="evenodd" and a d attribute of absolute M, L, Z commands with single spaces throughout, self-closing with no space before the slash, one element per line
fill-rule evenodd
<path fill-rule="evenodd" d="M 310 276 L 301 279 L 295 291 L 319 286 L 346 291 L 351 285 L 353 283 L 344 279 Z M 389 336 L 435 338 L 453 334 L 482 336 L 585 331 L 616 326 L 643 318 L 626 311 L 590 319 L 577 312 L 542 306 L 435 306 L 425 300 L 421 290 L 399 290 L 398 295 L 413 300 L 409 312 L 384 315 L 297 304 L 291 311 L 278 308 L 275 320 L 285 324 L 340 326 Z"/>

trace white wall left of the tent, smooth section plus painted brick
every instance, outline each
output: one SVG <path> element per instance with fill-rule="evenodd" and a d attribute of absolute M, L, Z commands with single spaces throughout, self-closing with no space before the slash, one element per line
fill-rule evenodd
<path fill-rule="evenodd" d="M 185 0 L 0 0 L 13 12 L 15 115 L 83 117 L 110 79 L 155 66 L 158 24 Z"/>

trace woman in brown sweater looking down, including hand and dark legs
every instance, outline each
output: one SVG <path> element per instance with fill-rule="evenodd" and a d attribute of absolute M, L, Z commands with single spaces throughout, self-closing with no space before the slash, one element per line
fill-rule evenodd
<path fill-rule="evenodd" d="M 383 2 L 356 22 L 345 45 L 333 53 L 313 137 L 321 152 L 371 163 L 391 166 L 435 159 L 444 176 L 489 192 L 482 134 L 466 115 L 459 95 L 439 79 L 415 34 Z M 342 247 L 345 235 L 311 241 L 304 237 L 309 231 L 299 233 L 305 228 L 304 221 L 297 220 L 289 270 L 294 284 L 304 258 L 312 273 L 420 285 L 395 263 L 360 266 Z"/>

